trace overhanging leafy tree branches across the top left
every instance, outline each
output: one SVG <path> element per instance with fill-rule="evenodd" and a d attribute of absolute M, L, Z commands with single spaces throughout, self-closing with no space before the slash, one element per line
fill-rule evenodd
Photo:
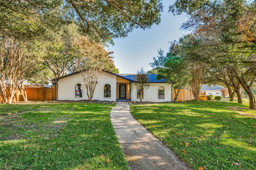
<path fill-rule="evenodd" d="M 163 9 L 160 0 L 1 0 L 0 6 L 1 13 L 5 14 L 0 18 L 1 26 L 9 33 L 14 23 L 11 19 L 19 14 L 40 21 L 42 28 L 58 28 L 74 21 L 85 35 L 112 43 L 113 38 L 126 37 L 134 28 L 146 29 L 159 24 Z M 19 21 L 15 21 L 18 25 Z"/>

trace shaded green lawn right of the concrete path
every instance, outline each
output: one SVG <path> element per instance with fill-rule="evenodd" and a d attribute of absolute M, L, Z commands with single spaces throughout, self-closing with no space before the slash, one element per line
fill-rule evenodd
<path fill-rule="evenodd" d="M 256 111 L 219 101 L 131 105 L 132 115 L 198 170 L 256 167 Z"/>

